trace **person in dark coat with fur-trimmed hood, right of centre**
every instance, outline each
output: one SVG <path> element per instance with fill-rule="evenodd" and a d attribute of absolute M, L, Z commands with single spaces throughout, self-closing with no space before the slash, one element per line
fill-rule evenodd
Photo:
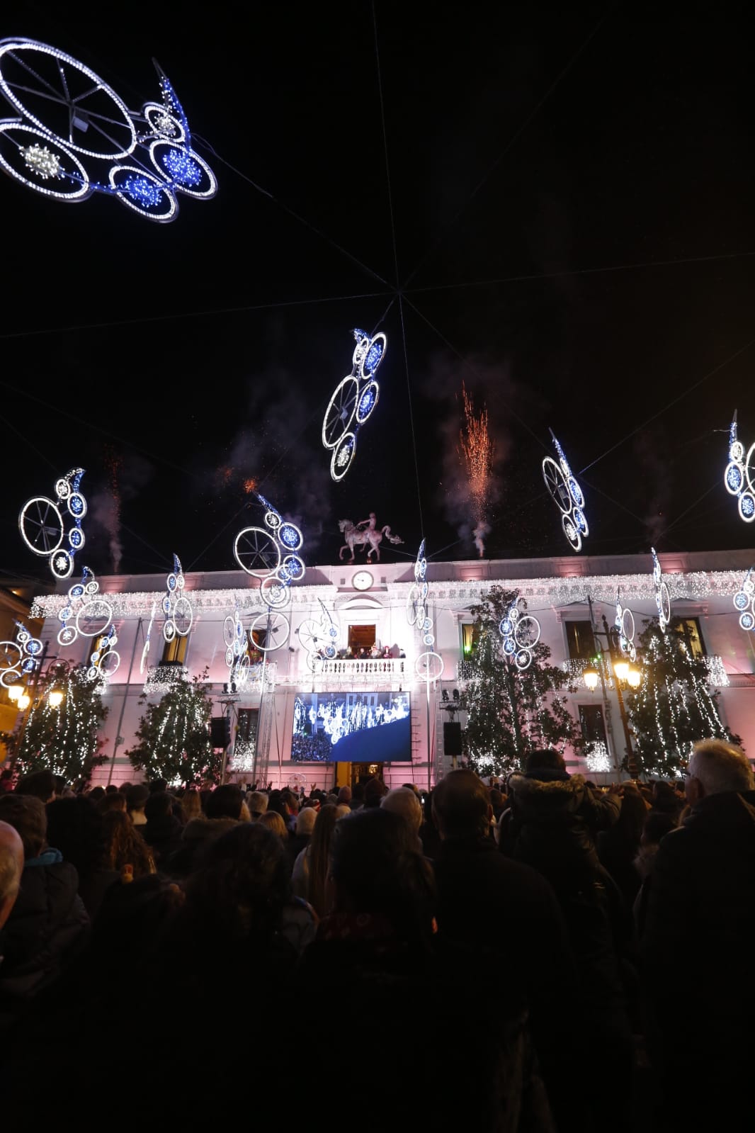
<path fill-rule="evenodd" d="M 593 1111 L 601 1114 L 612 1091 L 628 1094 L 633 1082 L 628 993 L 634 986 L 627 988 L 624 971 L 632 923 L 595 844 L 618 820 L 621 800 L 569 775 L 552 749 L 531 752 L 524 774 L 512 775 L 508 789 L 499 850 L 537 869 L 561 906 L 577 965 L 584 1049 L 594 1071 Z M 617 1114 L 615 1128 L 628 1128 L 629 1121 L 627 1111 Z"/>

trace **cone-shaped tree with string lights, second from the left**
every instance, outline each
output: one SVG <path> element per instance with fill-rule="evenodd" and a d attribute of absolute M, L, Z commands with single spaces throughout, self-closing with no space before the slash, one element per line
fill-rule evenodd
<path fill-rule="evenodd" d="M 213 750 L 209 721 L 213 701 L 204 683 L 207 670 L 191 681 L 177 681 L 139 721 L 138 744 L 126 752 L 148 780 L 169 783 L 218 783 L 222 755 Z M 139 698 L 146 702 L 146 695 Z"/>

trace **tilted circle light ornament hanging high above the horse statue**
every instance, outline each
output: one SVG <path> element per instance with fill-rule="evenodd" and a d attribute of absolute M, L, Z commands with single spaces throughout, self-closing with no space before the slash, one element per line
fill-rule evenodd
<path fill-rule="evenodd" d="M 383 332 L 369 335 L 355 327 L 357 342 L 351 359 L 351 374 L 336 385 L 323 418 L 323 444 L 332 450 L 331 476 L 342 480 L 357 453 L 357 436 L 372 416 L 380 395 L 375 380 L 385 358 L 388 340 Z"/>

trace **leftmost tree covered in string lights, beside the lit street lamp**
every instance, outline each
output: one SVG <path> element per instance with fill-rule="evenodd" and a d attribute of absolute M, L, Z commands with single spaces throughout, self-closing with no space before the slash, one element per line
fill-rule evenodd
<path fill-rule="evenodd" d="M 108 758 L 100 733 L 110 709 L 84 666 L 58 678 L 55 688 L 63 693 L 58 708 L 51 708 L 44 696 L 29 708 L 15 741 L 15 769 L 19 776 L 49 770 L 69 783 L 88 783 L 94 768 Z"/>

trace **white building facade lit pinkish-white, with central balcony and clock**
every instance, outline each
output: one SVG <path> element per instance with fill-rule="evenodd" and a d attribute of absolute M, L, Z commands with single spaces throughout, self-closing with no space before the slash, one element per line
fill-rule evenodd
<path fill-rule="evenodd" d="M 754 756 L 754 638 L 740 628 L 739 613 L 732 603 L 752 565 L 750 553 L 662 554 L 660 563 L 671 613 L 686 620 L 694 648 L 709 658 L 711 683 L 721 689 L 723 722 L 741 735 L 745 748 Z M 388 785 L 411 780 L 427 787 L 453 765 L 453 757 L 446 750 L 453 736 L 447 732 L 444 742 L 444 724 L 449 717 L 458 717 L 447 712 L 446 705 L 453 706 L 454 690 L 463 688 L 460 663 L 469 641 L 470 606 L 488 587 L 501 583 L 520 590 L 527 612 L 540 622 L 541 640 L 550 646 L 551 662 L 570 666 L 577 675 L 589 651 L 584 642 L 585 631 L 590 630 L 590 603 L 599 634 L 603 632 L 603 615 L 609 627 L 614 624 L 617 596 L 632 611 L 637 636 L 644 619 L 658 616 L 650 554 L 430 562 L 426 616 L 432 624 L 424 632 L 431 632 L 435 641 L 424 645 L 422 634 L 407 623 L 413 563 L 309 566 L 303 579 L 291 585 L 289 604 L 282 610 L 290 622 L 284 644 L 265 654 L 264 666 L 252 665 L 246 684 L 241 687 L 241 678 L 233 692 L 229 684 L 230 657 L 226 657 L 224 631 L 232 641 L 238 612 L 246 648 L 250 627 L 264 628 L 267 607 L 260 600 L 256 578 L 241 570 L 187 574 L 183 596 L 192 607 L 191 628 L 188 636 L 175 636 L 170 642 L 163 637 L 165 576 L 113 576 L 100 577 L 97 581 L 97 599 L 104 598 L 112 610 L 121 658 L 103 695 L 110 713 L 103 731 L 108 763 L 95 773 L 95 782 L 101 783 L 135 777 L 125 752 L 136 742 L 135 731 L 144 712 L 139 696 L 145 687 L 149 698 L 157 698 L 165 680 L 186 679 L 206 667 L 215 715 L 231 719 L 228 766 L 232 777 L 285 786 L 293 785 L 299 776 L 298 782 L 306 783 L 308 789 L 310 784 L 331 787 L 367 770 L 360 765 L 380 764 Z M 32 615 L 44 619 L 41 637 L 49 642 L 49 656 L 57 654 L 72 662 L 85 662 L 96 637 L 79 634 L 68 648 L 58 645 L 59 614 L 68 602 L 67 591 L 68 585 L 61 583 L 59 593 L 35 598 Z M 97 613 L 96 608 L 91 612 Z M 101 607 L 100 614 L 103 613 L 106 611 Z M 153 613 L 149 651 L 145 656 Z M 255 623 L 259 617 L 261 621 Z M 280 616 L 275 621 L 282 630 L 282 640 L 285 623 Z M 314 654 L 306 646 L 323 644 L 317 634 L 311 640 L 312 624 L 318 623 L 320 629 L 325 628 L 327 644 L 332 642 L 327 651 L 335 656 L 312 662 Z M 85 614 L 79 624 L 97 632 L 103 621 L 87 619 Z M 260 641 L 259 633 L 255 636 Z M 350 646 L 358 654 L 361 646 L 374 642 L 380 650 L 388 647 L 389 658 L 338 656 Z M 443 673 L 430 682 L 422 675 L 427 657 L 424 662 L 420 658 L 428 651 L 437 653 L 443 662 Z M 429 664 L 430 675 L 435 676 L 440 663 L 430 658 Z M 625 755 L 625 735 L 616 690 L 612 685 L 601 689 L 599 684 L 595 691 L 589 691 L 580 683 L 580 691 L 569 695 L 569 709 L 585 727 L 595 721 L 601 726 L 604 721 L 609 763 L 618 767 Z M 394 730 L 398 734 L 405 729 L 402 734 L 406 740 L 403 752 L 406 761 L 384 763 L 378 758 L 381 749 L 372 741 L 379 729 L 364 730 L 357 739 L 352 738 L 346 761 L 343 756 L 338 761 L 292 760 L 294 725 L 300 732 L 317 733 L 315 740 L 301 740 L 299 748 L 311 750 L 308 744 L 314 742 L 320 752 L 327 751 L 327 744 L 338 732 L 341 715 L 353 714 L 355 706 L 363 717 L 372 714 L 370 723 L 389 719 L 396 708 L 397 715 L 410 709 L 410 722 Z M 338 742 L 343 744 L 344 740 Z M 398 747 L 393 744 L 394 757 L 402 755 L 402 741 L 397 742 Z M 346 751 L 346 747 L 341 750 Z M 566 755 L 572 770 L 585 769 L 583 760 L 568 751 Z M 594 765 L 590 770 L 594 774 Z"/>

